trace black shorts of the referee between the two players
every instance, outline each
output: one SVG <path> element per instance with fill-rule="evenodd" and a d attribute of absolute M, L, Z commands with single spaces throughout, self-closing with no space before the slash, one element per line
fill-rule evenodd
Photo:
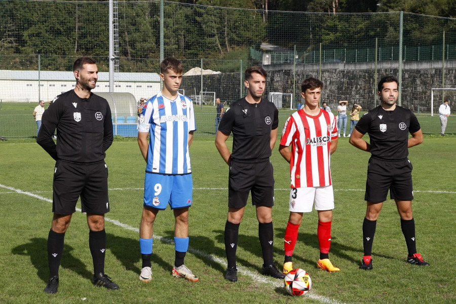
<path fill-rule="evenodd" d="M 228 207 L 245 207 L 250 192 L 252 205 L 274 206 L 274 170 L 269 160 L 261 163 L 231 163 Z"/>

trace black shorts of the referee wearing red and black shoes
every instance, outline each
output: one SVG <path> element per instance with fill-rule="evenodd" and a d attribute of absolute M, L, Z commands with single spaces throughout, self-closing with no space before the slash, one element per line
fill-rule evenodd
<path fill-rule="evenodd" d="M 385 202 L 388 191 L 392 200 L 413 200 L 411 171 L 412 164 L 408 159 L 390 162 L 370 158 L 364 200 L 370 203 Z"/>

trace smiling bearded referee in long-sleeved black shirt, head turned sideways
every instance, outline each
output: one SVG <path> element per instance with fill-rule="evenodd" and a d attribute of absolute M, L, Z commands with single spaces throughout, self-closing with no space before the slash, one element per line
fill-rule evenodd
<path fill-rule="evenodd" d="M 48 236 L 49 281 L 44 289 L 56 293 L 63 239 L 76 203 L 81 197 L 82 212 L 87 213 L 89 247 L 93 259 L 92 283 L 119 289 L 104 274 L 106 232 L 104 214 L 109 211 L 108 170 L 105 151 L 112 143 L 111 110 L 106 99 L 91 93 L 98 80 L 98 67 L 89 57 L 73 64 L 76 87 L 57 96 L 43 115 L 36 139 L 56 160 L 53 183 L 52 227 Z M 57 145 L 52 140 L 55 129 Z"/>

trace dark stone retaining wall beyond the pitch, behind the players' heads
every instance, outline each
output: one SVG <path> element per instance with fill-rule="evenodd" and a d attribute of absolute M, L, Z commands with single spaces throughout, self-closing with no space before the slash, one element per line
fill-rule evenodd
<path fill-rule="evenodd" d="M 269 92 L 294 93 L 300 98 L 300 82 L 308 77 L 318 78 L 318 64 L 296 65 L 296 83 L 293 92 L 293 65 L 267 65 L 267 88 L 264 97 Z M 380 78 L 385 75 L 398 77 L 397 62 L 379 62 L 377 64 L 377 80 L 375 82 L 375 65 L 371 62 L 342 63 L 331 62 L 322 65 L 322 81 L 324 89 L 322 101 L 326 101 L 331 109 L 335 110 L 339 100 L 348 100 L 349 106 L 353 102 L 359 103 L 364 109 L 371 109 L 378 105 L 376 86 Z M 402 106 L 420 112 L 430 112 L 431 88 L 442 87 L 442 62 L 421 61 L 404 62 L 402 68 Z M 456 60 L 445 61 L 445 87 L 456 88 Z M 190 96 L 201 90 L 201 76 L 184 77 L 181 88 Z M 222 101 L 231 102 L 240 97 L 240 73 L 222 73 L 203 76 L 203 91 L 215 91 L 216 97 Z M 187 92 L 192 92 L 188 94 Z M 245 89 L 243 89 L 245 94 Z M 445 99 L 456 101 L 455 93 L 446 93 Z M 300 101 L 296 98 L 296 101 Z M 434 105 L 434 111 L 439 104 Z"/>

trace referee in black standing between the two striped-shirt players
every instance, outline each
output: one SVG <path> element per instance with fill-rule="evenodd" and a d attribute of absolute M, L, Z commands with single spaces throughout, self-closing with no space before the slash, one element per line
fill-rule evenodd
<path fill-rule="evenodd" d="M 262 272 L 282 279 L 284 274 L 273 264 L 274 206 L 273 166 L 269 160 L 277 139 L 279 111 L 272 102 L 261 98 L 266 86 L 266 71 L 252 66 L 245 71 L 247 96 L 235 101 L 223 114 L 215 137 L 223 160 L 230 166 L 228 181 L 228 218 L 225 223 L 225 251 L 228 268 L 225 279 L 236 282 L 236 249 L 239 224 L 244 215 L 249 193 L 256 206 L 258 236 L 263 254 Z M 233 152 L 226 139 L 233 133 Z"/>

